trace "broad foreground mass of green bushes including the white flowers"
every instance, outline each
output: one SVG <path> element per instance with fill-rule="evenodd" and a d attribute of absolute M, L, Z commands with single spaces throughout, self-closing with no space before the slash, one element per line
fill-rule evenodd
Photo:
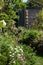
<path fill-rule="evenodd" d="M 33 49 L 26 45 L 17 45 L 15 38 L 9 35 L 0 37 L 0 65 L 29 65 L 34 64 Z"/>

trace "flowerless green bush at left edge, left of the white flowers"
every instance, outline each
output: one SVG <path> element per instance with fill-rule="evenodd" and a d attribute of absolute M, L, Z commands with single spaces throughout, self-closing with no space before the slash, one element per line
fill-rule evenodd
<path fill-rule="evenodd" d="M 10 47 L 14 47 L 15 41 L 9 35 L 1 35 L 0 36 L 0 65 L 7 65 L 10 60 L 9 52 Z"/>

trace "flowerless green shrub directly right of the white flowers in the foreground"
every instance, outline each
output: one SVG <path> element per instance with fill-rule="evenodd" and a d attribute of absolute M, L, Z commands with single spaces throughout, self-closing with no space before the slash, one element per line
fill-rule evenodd
<path fill-rule="evenodd" d="M 25 65 L 34 65 L 36 62 L 36 55 L 33 53 L 33 49 L 25 44 L 22 44 L 22 46 L 25 56 Z"/>

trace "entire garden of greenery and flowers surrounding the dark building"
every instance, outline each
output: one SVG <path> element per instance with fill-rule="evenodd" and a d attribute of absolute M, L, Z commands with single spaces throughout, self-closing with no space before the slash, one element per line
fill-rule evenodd
<path fill-rule="evenodd" d="M 0 1 L 0 65 L 43 65 L 43 8 L 37 15 L 41 22 L 16 27 L 17 13 L 26 7 L 22 0 Z"/>

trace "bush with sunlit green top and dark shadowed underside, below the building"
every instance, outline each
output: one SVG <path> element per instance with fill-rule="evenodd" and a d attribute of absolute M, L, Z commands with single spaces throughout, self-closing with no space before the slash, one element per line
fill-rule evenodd
<path fill-rule="evenodd" d="M 19 43 L 31 45 L 34 51 L 43 52 L 43 33 L 38 30 L 24 30 L 19 37 Z"/>

